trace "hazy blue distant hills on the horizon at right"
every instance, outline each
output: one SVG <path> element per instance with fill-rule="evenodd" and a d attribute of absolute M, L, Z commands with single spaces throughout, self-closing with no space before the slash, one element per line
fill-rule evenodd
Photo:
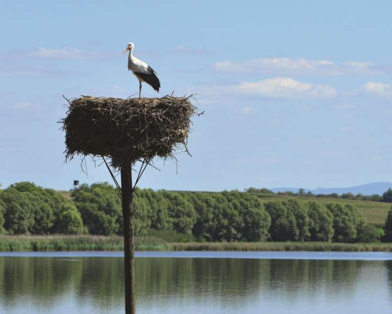
<path fill-rule="evenodd" d="M 358 185 L 358 186 L 352 186 L 352 187 L 331 187 L 331 188 L 317 188 L 317 189 L 304 189 L 305 192 L 312 192 L 313 194 L 331 194 L 331 193 L 337 193 L 339 195 L 343 193 L 353 193 L 353 194 L 358 194 L 361 193 L 363 195 L 373 195 L 373 194 L 378 194 L 378 195 L 383 195 L 385 191 L 387 191 L 389 188 L 392 188 L 392 183 L 390 182 L 374 182 L 374 183 L 367 183 L 363 185 Z M 277 187 L 270 189 L 273 192 L 287 192 L 291 191 L 294 193 L 297 193 L 299 188 L 297 187 Z"/>

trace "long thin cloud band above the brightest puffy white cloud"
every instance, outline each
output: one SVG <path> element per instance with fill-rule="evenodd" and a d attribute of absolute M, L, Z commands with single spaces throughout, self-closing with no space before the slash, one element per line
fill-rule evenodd
<path fill-rule="evenodd" d="M 291 58 L 259 58 L 244 62 L 217 62 L 218 71 L 244 73 L 280 73 L 285 75 L 377 75 L 391 74 L 392 65 L 374 65 L 367 62 L 344 62 L 335 64 L 329 60 L 307 60 Z"/>

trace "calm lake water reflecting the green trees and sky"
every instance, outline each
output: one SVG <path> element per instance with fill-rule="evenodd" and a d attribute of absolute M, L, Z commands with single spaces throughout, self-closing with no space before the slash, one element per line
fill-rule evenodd
<path fill-rule="evenodd" d="M 124 312 L 121 252 L 0 253 L 0 313 Z M 392 253 L 137 252 L 138 313 L 392 313 Z"/>

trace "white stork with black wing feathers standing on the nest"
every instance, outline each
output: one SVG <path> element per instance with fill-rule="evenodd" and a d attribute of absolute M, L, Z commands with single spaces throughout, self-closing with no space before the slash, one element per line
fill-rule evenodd
<path fill-rule="evenodd" d="M 124 49 L 123 54 L 129 50 L 128 70 L 132 71 L 135 77 L 139 80 L 139 98 L 142 90 L 142 82 L 146 82 L 152 88 L 154 88 L 154 90 L 159 92 L 161 82 L 159 81 L 157 74 L 147 63 L 137 59 L 132 55 L 132 50 L 134 47 L 135 45 L 133 43 L 129 43 L 128 46 Z"/>

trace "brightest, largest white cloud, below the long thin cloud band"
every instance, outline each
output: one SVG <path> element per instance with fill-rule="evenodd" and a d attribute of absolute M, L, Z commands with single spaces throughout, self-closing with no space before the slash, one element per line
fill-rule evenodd
<path fill-rule="evenodd" d="M 337 95 L 336 89 L 331 86 L 304 83 L 292 78 L 241 82 L 239 85 L 231 88 L 242 94 L 260 95 L 270 98 L 329 98 Z"/>

